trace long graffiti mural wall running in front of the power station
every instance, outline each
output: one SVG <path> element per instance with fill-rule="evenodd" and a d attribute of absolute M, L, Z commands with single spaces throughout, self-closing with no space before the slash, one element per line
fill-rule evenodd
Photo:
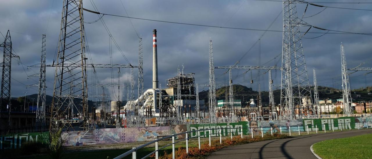
<path fill-rule="evenodd" d="M 315 126 L 316 125 L 316 126 Z M 325 126 L 324 126 L 325 125 Z M 262 129 L 261 129 L 262 127 Z M 62 139 L 64 146 L 82 146 L 82 145 L 104 145 L 113 143 L 130 142 L 149 142 L 171 134 L 182 133 L 193 130 L 217 129 L 211 131 L 211 136 L 219 136 L 221 129 L 222 136 L 243 135 L 262 135 L 270 133 L 272 127 L 273 133 L 322 130 L 340 130 L 340 129 L 366 129 L 372 128 L 372 116 L 368 117 L 340 117 L 336 119 L 304 119 L 304 120 L 269 120 L 269 121 L 239 121 L 237 123 L 208 123 L 208 124 L 182 124 L 174 126 L 159 127 L 126 127 L 126 128 L 108 128 L 88 131 L 63 132 Z M 307 129 L 308 127 L 308 129 Z M 228 129 L 227 129 L 228 128 Z M 208 137 L 209 130 L 201 131 L 201 135 Z M 197 133 L 191 133 L 189 137 L 196 137 Z M 176 136 L 177 139 L 185 139 L 186 134 Z M 0 136 L 0 149 L 20 148 L 22 143 L 29 141 L 41 141 L 48 143 L 49 132 L 41 133 L 17 133 Z"/>

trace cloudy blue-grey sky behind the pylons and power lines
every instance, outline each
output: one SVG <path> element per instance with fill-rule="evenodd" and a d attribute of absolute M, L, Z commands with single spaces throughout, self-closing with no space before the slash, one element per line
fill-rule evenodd
<path fill-rule="evenodd" d="M 358 2 L 368 2 L 357 0 Z M 312 3 L 331 7 L 355 9 L 371 9 L 372 4 L 338 4 L 316 3 L 335 2 L 331 0 L 314 0 Z M 353 0 L 337 0 L 336 2 L 355 2 Z M 94 10 L 93 4 L 100 13 L 138 17 L 144 19 L 164 20 L 200 25 L 238 27 L 250 29 L 283 29 L 282 3 L 278 1 L 257 0 L 84 0 L 83 7 Z M 123 7 L 124 6 L 124 7 Z M 302 17 L 306 4 L 297 4 L 298 16 Z M 371 33 L 372 11 L 350 10 L 316 7 L 309 5 L 303 20 L 310 25 L 330 30 L 341 30 L 356 33 Z M 12 59 L 12 97 L 35 94 L 37 87 L 26 87 L 38 82 L 31 77 L 39 72 L 39 68 L 28 68 L 40 62 L 42 34 L 46 35 L 47 64 L 52 64 L 55 57 L 57 41 L 61 28 L 62 0 L 36 1 L 4 1 L 0 6 L 0 32 L 3 36 L 10 30 L 13 53 L 20 56 Z M 319 13 L 320 12 L 320 13 Z M 319 14 L 317 14 L 319 13 Z M 279 17 L 276 19 L 276 17 Z M 314 15 L 316 14 L 316 15 Z M 314 16 L 312 16 L 314 15 Z M 311 17 L 309 17 L 311 16 Z M 84 28 L 89 45 L 89 54 L 95 64 L 128 64 L 116 47 L 109 56 L 109 34 L 98 20 L 97 14 L 84 12 Z M 102 17 L 108 29 L 132 65 L 138 65 L 138 36 L 142 37 L 144 55 L 144 89 L 152 87 L 152 34 L 157 29 L 158 74 L 161 87 L 166 87 L 166 79 L 177 75 L 179 67 L 185 74 L 195 73 L 195 82 L 208 83 L 208 49 L 209 39 L 213 42 L 215 66 L 234 65 L 240 61 L 241 66 L 281 66 L 282 32 L 266 32 L 258 43 L 254 43 L 263 34 L 262 31 L 225 29 L 216 27 L 191 26 L 174 23 L 154 22 L 105 15 Z M 276 20 L 275 20 L 276 19 Z M 275 20 L 275 21 L 274 21 Z M 90 23 L 94 22 L 94 23 Z M 301 27 L 305 32 L 309 27 Z M 312 28 L 310 32 L 326 32 Z M 138 35 L 137 35 L 138 34 Z M 303 33 L 302 33 L 303 34 Z M 349 68 L 365 62 L 363 67 L 372 67 L 372 36 L 356 34 L 323 34 L 307 33 L 302 38 L 302 46 L 306 60 L 309 82 L 313 84 L 313 73 L 317 73 L 318 85 L 341 89 L 341 57 L 340 44 L 344 44 L 346 61 Z M 3 41 L 0 36 L 0 41 Z M 254 45 L 254 46 L 253 46 Z M 247 53 L 247 51 L 253 48 Z M 2 52 L 3 48 L 0 48 Z M 247 54 L 246 54 L 247 53 Z M 242 58 L 242 56 L 246 54 Z M 275 58 L 278 56 L 277 58 Z M 241 59 L 241 60 L 240 60 Z M 228 84 L 225 70 L 215 69 L 218 84 Z M 97 78 L 101 84 L 116 84 L 118 70 L 97 69 Z M 263 70 L 233 70 L 233 84 L 246 85 L 258 90 L 268 90 L 268 75 Z M 351 73 L 352 71 L 350 71 Z M 372 74 L 359 71 L 350 74 L 352 89 L 372 85 Z M 129 69 L 121 69 L 121 84 L 126 84 Z M 137 86 L 138 70 L 134 70 L 135 86 Z M 280 89 L 280 71 L 272 71 L 274 89 Z M 92 83 L 92 71 L 88 69 L 88 83 Z M 113 80 L 112 80 L 113 79 Z M 250 84 L 250 80 L 254 83 Z M 113 81 L 113 82 L 112 82 Z M 47 68 L 47 94 L 53 94 L 54 68 Z M 207 90 L 207 87 L 199 88 Z M 105 93 L 118 95 L 116 87 L 105 88 Z M 102 94 L 101 88 L 89 87 L 89 95 Z M 126 87 L 121 88 L 125 96 Z M 137 96 L 137 88 L 135 88 Z M 125 97 L 120 97 L 121 100 Z M 89 98 L 97 100 L 96 98 Z M 114 98 L 112 100 L 115 100 Z"/>

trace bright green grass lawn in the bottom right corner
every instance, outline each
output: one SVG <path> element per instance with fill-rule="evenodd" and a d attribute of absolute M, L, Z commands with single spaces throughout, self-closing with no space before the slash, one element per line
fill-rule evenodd
<path fill-rule="evenodd" d="M 323 159 L 372 159 L 372 134 L 315 143 L 314 152 Z"/>

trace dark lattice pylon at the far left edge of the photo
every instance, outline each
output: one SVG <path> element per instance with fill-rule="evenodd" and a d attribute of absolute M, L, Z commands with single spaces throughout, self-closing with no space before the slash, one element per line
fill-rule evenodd
<path fill-rule="evenodd" d="M 0 47 L 3 47 L 3 72 L 1 74 L 1 100 L 0 100 L 0 119 L 1 111 L 7 109 L 8 113 L 8 123 L 7 128 L 10 129 L 10 110 L 12 105 L 10 104 L 10 81 L 11 81 L 11 70 L 12 70 L 12 58 L 18 56 L 12 53 L 12 39 L 10 38 L 10 32 L 6 33 L 5 40 Z M 1 120 L 0 120 L 1 125 Z"/>

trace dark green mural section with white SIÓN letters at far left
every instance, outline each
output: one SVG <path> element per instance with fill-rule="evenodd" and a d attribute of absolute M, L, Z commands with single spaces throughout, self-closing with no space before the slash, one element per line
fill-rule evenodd
<path fill-rule="evenodd" d="M 49 132 L 15 133 L 0 136 L 0 150 L 19 149 L 25 142 L 49 143 Z"/>

